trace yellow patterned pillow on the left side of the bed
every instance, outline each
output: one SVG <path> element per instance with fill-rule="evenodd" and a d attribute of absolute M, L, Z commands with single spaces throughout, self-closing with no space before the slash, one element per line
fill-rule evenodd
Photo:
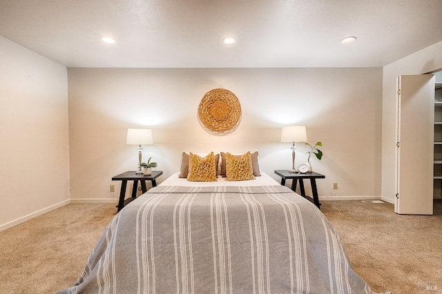
<path fill-rule="evenodd" d="M 189 155 L 189 182 L 217 182 L 215 155 L 213 152 L 206 157 L 190 153 Z"/>

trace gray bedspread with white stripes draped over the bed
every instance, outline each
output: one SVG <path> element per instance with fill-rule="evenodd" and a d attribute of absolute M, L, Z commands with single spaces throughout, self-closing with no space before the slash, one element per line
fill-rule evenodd
<path fill-rule="evenodd" d="M 373 293 L 323 213 L 285 186 L 157 186 L 59 293 Z"/>

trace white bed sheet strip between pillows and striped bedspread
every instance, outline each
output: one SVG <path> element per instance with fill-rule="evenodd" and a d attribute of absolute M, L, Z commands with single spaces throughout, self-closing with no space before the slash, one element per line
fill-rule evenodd
<path fill-rule="evenodd" d="M 217 182 L 189 182 L 187 179 L 178 177 L 180 173 L 174 173 L 164 180 L 161 186 L 192 186 L 192 187 L 211 187 L 211 186 L 278 186 L 280 183 L 276 182 L 272 177 L 266 173 L 261 172 L 260 177 L 247 181 L 226 181 L 225 177 L 218 176 Z"/>

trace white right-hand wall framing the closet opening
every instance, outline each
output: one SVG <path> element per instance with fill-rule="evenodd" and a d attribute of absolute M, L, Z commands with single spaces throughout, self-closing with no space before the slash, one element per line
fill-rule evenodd
<path fill-rule="evenodd" d="M 383 68 L 382 197 L 394 203 L 396 150 L 396 77 L 420 75 L 442 68 L 442 41 Z"/>

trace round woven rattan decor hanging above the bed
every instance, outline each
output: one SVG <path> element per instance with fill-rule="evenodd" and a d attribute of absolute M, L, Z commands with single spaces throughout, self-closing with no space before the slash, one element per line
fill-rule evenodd
<path fill-rule="evenodd" d="M 227 135 L 238 128 L 241 120 L 241 104 L 233 92 L 213 89 L 202 97 L 198 108 L 201 124 L 216 135 Z"/>

